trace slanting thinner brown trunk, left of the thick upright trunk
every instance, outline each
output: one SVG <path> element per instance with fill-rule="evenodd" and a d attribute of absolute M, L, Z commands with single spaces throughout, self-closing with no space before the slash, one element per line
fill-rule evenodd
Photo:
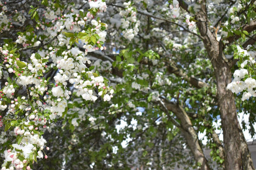
<path fill-rule="evenodd" d="M 190 121 L 189 116 L 184 111 L 184 109 L 174 103 L 165 103 L 166 108 L 173 112 L 178 119 L 181 121 L 181 131 L 186 138 L 187 144 L 190 147 L 195 161 L 200 165 L 200 170 L 210 170 L 207 159 L 203 153 L 202 147 L 199 144 L 199 140 L 197 134 L 195 133 L 195 129 Z"/>

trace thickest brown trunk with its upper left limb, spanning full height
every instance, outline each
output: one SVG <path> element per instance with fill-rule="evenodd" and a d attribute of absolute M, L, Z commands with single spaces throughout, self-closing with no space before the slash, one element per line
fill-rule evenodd
<path fill-rule="evenodd" d="M 232 80 L 232 72 L 227 59 L 222 52 L 222 44 L 216 40 L 215 34 L 207 27 L 206 6 L 201 4 L 201 11 L 197 13 L 197 26 L 206 47 L 208 57 L 211 59 L 217 81 L 217 93 L 221 125 L 223 129 L 223 140 L 225 150 L 225 168 L 227 170 L 242 170 L 242 159 L 240 151 L 240 134 L 234 97 L 227 90 L 228 83 Z M 250 157 L 250 155 L 248 155 Z M 253 167 L 252 167 L 253 168 Z"/>

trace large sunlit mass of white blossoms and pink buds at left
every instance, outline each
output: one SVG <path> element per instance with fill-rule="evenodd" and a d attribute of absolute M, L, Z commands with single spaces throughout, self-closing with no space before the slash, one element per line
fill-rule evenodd
<path fill-rule="evenodd" d="M 110 101 L 113 97 L 114 91 L 107 79 L 93 71 L 93 67 L 87 67 L 91 64 L 87 53 L 105 49 L 108 26 L 99 18 L 93 19 L 98 12 L 106 11 L 106 3 L 90 0 L 89 5 L 87 13 L 71 9 L 62 14 L 63 10 L 53 5 L 43 11 L 37 28 L 18 33 L 15 45 L 20 45 L 20 50 L 37 49 L 25 60 L 20 57 L 19 49 L 13 48 L 14 43 L 0 47 L 3 58 L 0 77 L 3 69 L 13 74 L 0 90 L 0 110 L 7 113 L 0 116 L 0 127 L 6 122 L 5 129 L 13 129 L 17 139 L 16 144 L 5 150 L 1 170 L 30 170 L 34 161 L 48 158 L 44 149 L 49 150 L 49 147 L 45 146 L 47 141 L 42 135 L 47 125 L 66 116 L 68 108 L 73 108 L 72 102 L 68 102 L 72 91 L 85 101 L 95 102 L 99 96 Z M 12 20 L 24 23 L 24 17 L 18 12 L 7 20 L 4 11 L 5 8 L 0 14 L 1 23 L 8 24 Z M 0 29 L 5 30 L 5 27 Z M 37 35 L 35 30 L 42 32 Z M 47 76 L 54 68 L 57 71 L 50 81 Z M 25 89 L 27 94 L 16 97 L 18 89 Z M 77 126 L 77 118 L 73 118 L 71 124 Z"/>

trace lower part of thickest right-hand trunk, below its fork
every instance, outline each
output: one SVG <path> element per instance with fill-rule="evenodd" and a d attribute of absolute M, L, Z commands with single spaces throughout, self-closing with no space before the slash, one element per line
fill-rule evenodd
<path fill-rule="evenodd" d="M 221 55 L 221 57 L 223 57 Z M 217 58 L 217 57 L 216 57 Z M 218 101 L 223 129 L 225 167 L 227 170 L 242 169 L 240 152 L 240 134 L 233 93 L 227 90 L 232 73 L 228 64 L 222 58 L 212 60 L 217 80 Z"/>

